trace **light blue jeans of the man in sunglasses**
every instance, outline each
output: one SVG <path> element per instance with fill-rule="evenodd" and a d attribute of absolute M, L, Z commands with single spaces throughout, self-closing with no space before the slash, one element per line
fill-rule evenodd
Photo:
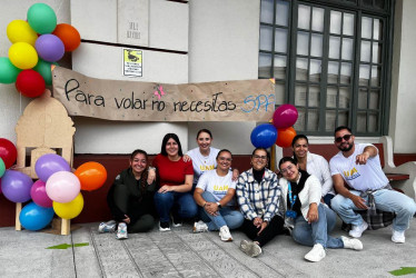
<path fill-rule="evenodd" d="M 359 196 L 360 191 L 350 190 L 349 192 Z M 405 231 L 409 227 L 410 219 L 415 215 L 416 203 L 415 201 L 404 193 L 396 190 L 380 189 L 373 193 L 376 208 L 383 211 L 390 211 L 396 214 L 396 218 L 393 220 L 393 229 L 397 231 Z M 364 198 L 368 206 L 368 197 Z M 360 210 L 357 208 L 349 198 L 345 198 L 341 195 L 337 195 L 331 200 L 331 208 L 339 215 L 346 224 L 361 225 L 363 217 L 354 210 Z"/>

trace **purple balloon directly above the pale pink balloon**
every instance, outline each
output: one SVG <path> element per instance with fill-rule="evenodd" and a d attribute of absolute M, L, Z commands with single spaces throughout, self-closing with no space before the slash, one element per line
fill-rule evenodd
<path fill-rule="evenodd" d="M 34 163 L 34 171 L 39 179 L 47 182 L 50 176 L 59 171 L 71 171 L 67 160 L 55 153 L 41 156 Z"/>

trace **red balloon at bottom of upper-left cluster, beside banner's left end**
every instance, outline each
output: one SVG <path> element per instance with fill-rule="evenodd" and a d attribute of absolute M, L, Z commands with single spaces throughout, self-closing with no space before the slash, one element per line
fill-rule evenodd
<path fill-rule="evenodd" d="M 39 72 L 28 69 L 19 73 L 16 80 L 16 88 L 24 97 L 36 98 L 43 93 L 46 85 Z"/>

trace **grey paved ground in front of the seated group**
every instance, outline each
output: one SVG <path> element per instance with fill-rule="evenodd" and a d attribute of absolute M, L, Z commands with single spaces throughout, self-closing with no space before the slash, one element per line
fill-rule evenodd
<path fill-rule="evenodd" d="M 393 277 L 388 271 L 402 267 L 416 270 L 415 220 L 404 245 L 390 241 L 389 228 L 366 231 L 363 251 L 331 249 L 314 264 L 304 260 L 310 248 L 288 236 L 250 258 L 238 249 L 244 234 L 235 231 L 232 242 L 222 242 L 217 232 L 192 234 L 190 225 L 130 234 L 122 241 L 98 234 L 98 224 L 82 225 L 70 236 L 0 228 L 0 277 Z M 69 248 L 47 249 L 62 244 Z"/>

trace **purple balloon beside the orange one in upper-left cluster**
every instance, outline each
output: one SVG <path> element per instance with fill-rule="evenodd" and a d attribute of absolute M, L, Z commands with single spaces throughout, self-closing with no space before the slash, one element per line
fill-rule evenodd
<path fill-rule="evenodd" d="M 63 42 L 55 34 L 40 36 L 34 43 L 36 51 L 46 61 L 56 62 L 65 54 Z"/>

